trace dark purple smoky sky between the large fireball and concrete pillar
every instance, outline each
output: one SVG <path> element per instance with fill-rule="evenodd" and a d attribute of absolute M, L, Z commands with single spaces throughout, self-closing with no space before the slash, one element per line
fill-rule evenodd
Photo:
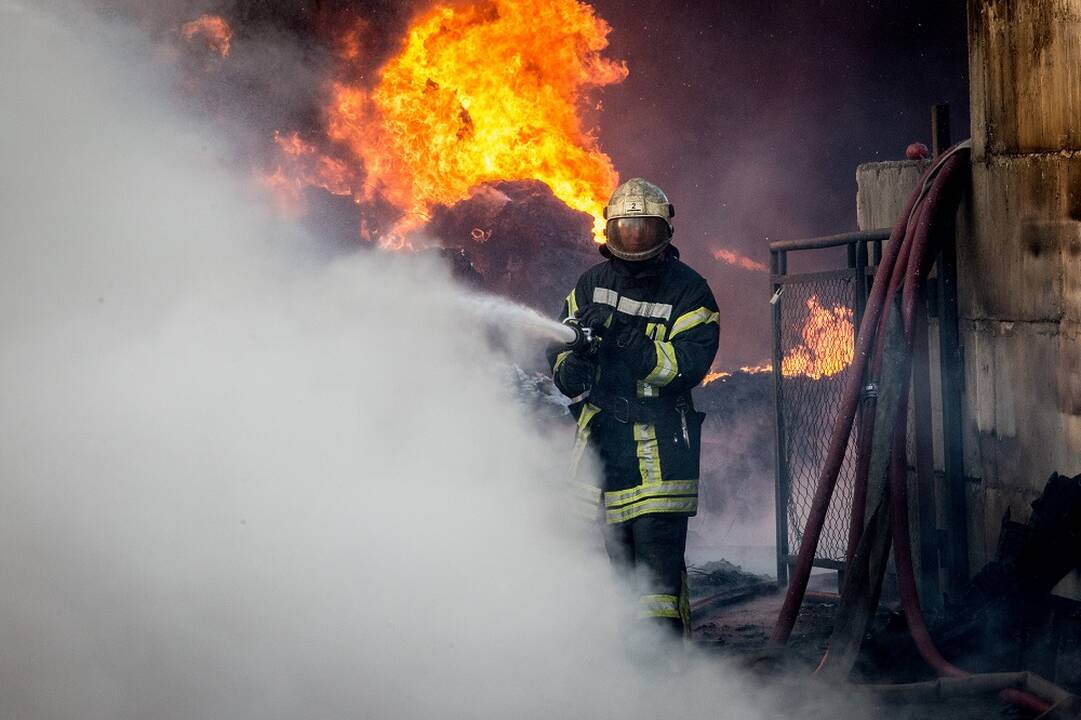
<path fill-rule="evenodd" d="M 768 357 L 769 286 L 712 248 L 768 264 L 771 240 L 856 229 L 856 165 L 930 145 L 935 103 L 967 136 L 963 2 L 592 4 L 630 69 L 604 92 L 601 143 L 676 204 L 676 241 L 721 306 L 724 366 Z"/>

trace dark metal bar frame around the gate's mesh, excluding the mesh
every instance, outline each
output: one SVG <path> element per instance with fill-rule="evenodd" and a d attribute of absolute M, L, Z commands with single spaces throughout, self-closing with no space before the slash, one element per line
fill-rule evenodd
<path fill-rule="evenodd" d="M 785 585 L 788 582 L 788 568 L 796 561 L 789 548 L 789 536 L 793 528 L 789 523 L 791 504 L 791 478 L 789 475 L 789 443 L 785 427 L 785 388 L 786 379 L 782 373 L 785 357 L 783 304 L 784 290 L 790 285 L 806 285 L 831 282 L 838 279 L 853 283 L 852 309 L 854 333 L 858 332 L 863 319 L 864 307 L 870 285 L 871 268 L 882 256 L 882 242 L 890 237 L 890 230 L 870 230 L 865 232 L 846 232 L 823 238 L 806 240 L 784 240 L 770 244 L 770 283 L 773 297 L 770 301 L 773 315 L 773 391 L 774 391 L 774 431 L 775 431 L 775 504 L 776 504 L 776 542 L 777 542 L 777 582 Z M 871 262 L 868 262 L 868 245 L 870 245 Z M 848 249 L 848 267 L 818 272 L 788 272 L 788 254 L 792 252 L 811 252 L 830 248 Z M 853 337 L 855 341 L 855 337 Z M 832 423 L 822 424 L 820 432 L 828 437 Z M 802 529 L 800 529 L 802 530 Z M 814 565 L 841 571 L 843 558 L 816 557 Z"/>

